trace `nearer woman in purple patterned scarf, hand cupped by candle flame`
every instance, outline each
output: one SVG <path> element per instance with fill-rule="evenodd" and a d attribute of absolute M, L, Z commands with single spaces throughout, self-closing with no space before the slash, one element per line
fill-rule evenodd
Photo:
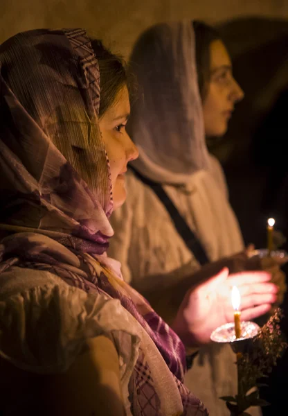
<path fill-rule="evenodd" d="M 207 415 L 186 354 L 232 320 L 233 284 L 244 319 L 276 298 L 268 273 L 224 269 L 171 329 L 123 281 L 106 250 L 138 154 L 129 111 L 122 62 L 82 29 L 0 46 L 1 415 Z"/>

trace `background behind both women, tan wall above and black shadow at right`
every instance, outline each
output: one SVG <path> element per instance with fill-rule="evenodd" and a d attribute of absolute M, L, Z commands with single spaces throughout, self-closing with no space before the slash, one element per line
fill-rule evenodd
<path fill-rule="evenodd" d="M 288 0 L 1 0 L 0 6 L 0 42 L 37 27 L 85 27 L 126 58 L 138 34 L 159 21 L 217 24 L 246 95 L 227 135 L 210 150 L 224 166 L 245 242 L 266 245 L 269 216 L 288 237 Z M 282 328 L 288 334 L 286 319 Z M 262 390 L 271 401 L 264 415 L 288 414 L 287 374 L 288 353 Z"/>

